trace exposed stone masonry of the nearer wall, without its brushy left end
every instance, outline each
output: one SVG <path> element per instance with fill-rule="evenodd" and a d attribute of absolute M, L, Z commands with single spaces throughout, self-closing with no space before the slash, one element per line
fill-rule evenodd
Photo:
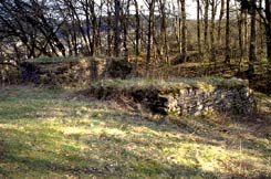
<path fill-rule="evenodd" d="M 216 88 L 212 92 L 186 88 L 175 94 L 156 94 L 154 96 L 146 96 L 143 103 L 152 110 L 161 114 L 197 116 L 215 112 L 247 115 L 256 110 L 256 102 L 249 88 Z"/>

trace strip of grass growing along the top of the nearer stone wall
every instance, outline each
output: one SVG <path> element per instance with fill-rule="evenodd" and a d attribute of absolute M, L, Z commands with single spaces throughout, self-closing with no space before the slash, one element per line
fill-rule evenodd
<path fill-rule="evenodd" d="M 184 88 L 200 88 L 213 91 L 218 88 L 243 88 L 248 86 L 248 81 L 239 78 L 223 78 L 216 76 L 206 77 L 174 77 L 168 80 L 152 78 L 128 78 L 128 80 L 104 80 L 93 84 L 94 87 L 107 87 L 118 91 L 132 90 L 159 90 L 161 93 L 179 92 Z"/>

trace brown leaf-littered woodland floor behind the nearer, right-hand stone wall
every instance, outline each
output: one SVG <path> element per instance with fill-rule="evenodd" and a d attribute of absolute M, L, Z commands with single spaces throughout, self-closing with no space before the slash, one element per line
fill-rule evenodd
<path fill-rule="evenodd" d="M 144 71 L 144 63 L 140 64 L 139 71 Z M 195 61 L 186 62 L 177 65 L 163 65 L 155 67 L 152 71 L 152 76 L 155 78 L 168 78 L 168 77 L 205 77 L 205 76 L 219 76 L 219 77 L 238 77 L 249 80 L 250 88 L 271 94 L 271 72 L 268 73 L 268 61 L 261 60 L 254 62 L 254 74 L 249 75 L 246 73 L 248 69 L 248 62 L 239 64 L 239 60 L 234 59 L 231 64 L 225 64 L 223 59 L 218 57 L 217 64 L 209 61 Z"/>

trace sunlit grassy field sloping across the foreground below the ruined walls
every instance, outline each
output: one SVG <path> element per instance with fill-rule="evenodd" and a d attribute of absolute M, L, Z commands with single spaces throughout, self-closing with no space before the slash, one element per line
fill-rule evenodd
<path fill-rule="evenodd" d="M 270 178 L 271 98 L 251 120 L 135 112 L 71 90 L 0 88 L 0 178 Z"/>

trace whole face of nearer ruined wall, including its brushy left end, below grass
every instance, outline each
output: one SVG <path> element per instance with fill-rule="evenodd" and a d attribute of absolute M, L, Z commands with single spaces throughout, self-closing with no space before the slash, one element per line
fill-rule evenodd
<path fill-rule="evenodd" d="M 256 101 L 251 91 L 247 87 L 247 82 L 236 81 L 238 83 L 233 85 L 232 80 L 229 80 L 229 82 L 225 80 L 221 82 L 223 84 L 208 84 L 209 82 L 205 82 L 204 86 L 195 85 L 195 83 L 186 84 L 186 82 L 181 85 L 179 85 L 180 83 L 156 85 L 158 82 L 154 82 L 146 86 L 133 86 L 123 83 L 122 85 L 126 87 L 103 82 L 103 84 L 93 86 L 90 92 L 91 95 L 102 99 L 111 99 L 123 95 L 143 104 L 154 113 L 163 115 L 253 114 L 256 112 Z"/>

